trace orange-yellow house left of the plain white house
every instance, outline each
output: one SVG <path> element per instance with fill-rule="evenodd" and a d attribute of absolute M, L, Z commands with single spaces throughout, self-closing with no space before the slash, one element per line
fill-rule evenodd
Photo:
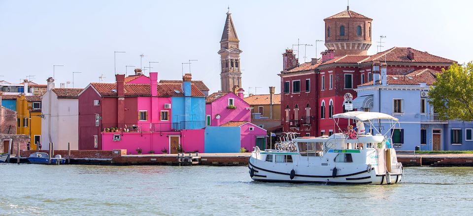
<path fill-rule="evenodd" d="M 21 93 L 16 97 L 16 112 L 16 133 L 30 135 L 31 149 L 36 150 L 41 141 L 41 97 Z"/>

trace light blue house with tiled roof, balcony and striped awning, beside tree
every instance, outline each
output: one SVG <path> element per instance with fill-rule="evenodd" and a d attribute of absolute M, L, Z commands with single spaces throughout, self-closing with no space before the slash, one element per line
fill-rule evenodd
<path fill-rule="evenodd" d="M 391 135 L 398 150 L 472 150 L 473 122 L 442 121 L 428 103 L 428 91 L 439 71 L 415 70 L 406 75 L 373 74 L 373 81 L 359 85 L 353 108 L 375 111 L 399 118 L 400 125 L 391 129 L 381 121 L 381 133 Z M 377 123 L 374 123 L 376 126 Z M 376 126 L 379 128 L 379 125 Z M 379 129 L 378 129 L 379 130 Z"/>

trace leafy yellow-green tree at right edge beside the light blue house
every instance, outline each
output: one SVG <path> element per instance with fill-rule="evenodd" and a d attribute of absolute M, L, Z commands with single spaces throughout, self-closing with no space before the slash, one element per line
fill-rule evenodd
<path fill-rule="evenodd" d="M 442 69 L 429 98 L 440 119 L 473 121 L 473 62 Z"/>

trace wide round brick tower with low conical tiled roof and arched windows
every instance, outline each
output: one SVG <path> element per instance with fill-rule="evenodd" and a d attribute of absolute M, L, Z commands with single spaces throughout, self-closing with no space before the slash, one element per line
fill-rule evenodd
<path fill-rule="evenodd" d="M 325 46 L 335 49 L 336 56 L 345 54 L 367 54 L 371 47 L 372 19 L 345 11 L 325 18 Z"/>

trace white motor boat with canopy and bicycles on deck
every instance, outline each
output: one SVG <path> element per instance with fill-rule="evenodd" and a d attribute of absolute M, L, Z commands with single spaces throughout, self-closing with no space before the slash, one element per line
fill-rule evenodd
<path fill-rule="evenodd" d="M 403 165 L 397 161 L 391 137 L 381 135 L 373 120 L 399 124 L 397 118 L 379 112 L 351 111 L 333 116 L 369 124 L 371 133 L 351 139 L 344 133 L 294 138 L 295 151 L 260 150 L 251 153 L 248 168 L 253 180 L 265 182 L 377 184 L 401 182 Z M 338 120 L 336 125 L 338 126 Z M 338 127 L 339 128 L 339 127 Z M 390 131 L 390 130 L 387 130 Z"/>

